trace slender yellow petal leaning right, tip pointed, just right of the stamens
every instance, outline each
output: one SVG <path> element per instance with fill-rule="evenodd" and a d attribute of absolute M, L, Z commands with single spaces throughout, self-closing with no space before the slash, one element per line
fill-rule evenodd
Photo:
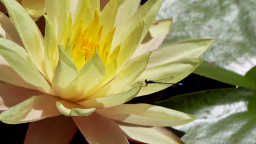
<path fill-rule="evenodd" d="M 139 45 L 139 39 L 143 32 L 144 22 L 144 19 L 139 20 L 136 25 L 131 28 L 131 32 L 121 44 L 119 55 L 117 57 L 117 68 L 120 68 L 129 61 L 133 52 Z"/>

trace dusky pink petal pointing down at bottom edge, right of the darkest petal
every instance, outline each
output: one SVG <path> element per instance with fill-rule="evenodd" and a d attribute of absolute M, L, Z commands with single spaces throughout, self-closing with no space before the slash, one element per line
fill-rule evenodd
<path fill-rule="evenodd" d="M 86 117 L 73 117 L 75 124 L 89 143 L 129 143 L 118 124 L 93 113 Z"/>

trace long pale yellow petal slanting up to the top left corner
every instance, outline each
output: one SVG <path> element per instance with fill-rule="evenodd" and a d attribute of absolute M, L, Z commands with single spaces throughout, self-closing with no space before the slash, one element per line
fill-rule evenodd
<path fill-rule="evenodd" d="M 44 46 L 40 33 L 36 23 L 27 14 L 26 10 L 14 0 L 3 0 L 5 7 L 14 23 L 20 38 L 26 47 L 28 54 L 30 55 L 33 63 L 44 74 L 43 70 L 43 55 Z"/>

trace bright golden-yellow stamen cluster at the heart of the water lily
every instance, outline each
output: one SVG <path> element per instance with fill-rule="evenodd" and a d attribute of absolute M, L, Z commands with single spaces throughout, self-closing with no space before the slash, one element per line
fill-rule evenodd
<path fill-rule="evenodd" d="M 94 20 L 87 28 L 84 28 L 83 20 L 80 22 L 72 39 L 73 60 L 78 69 L 82 68 L 96 51 L 102 61 L 107 64 L 115 28 L 102 37 L 103 27 L 97 10 Z"/>

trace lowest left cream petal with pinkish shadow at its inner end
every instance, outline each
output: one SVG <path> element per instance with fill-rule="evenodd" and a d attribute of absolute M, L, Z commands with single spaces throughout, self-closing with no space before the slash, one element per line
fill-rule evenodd
<path fill-rule="evenodd" d="M 56 108 L 59 98 L 53 95 L 37 95 L 0 114 L 0 121 L 9 124 L 27 123 L 43 118 L 59 116 L 61 113 Z"/>

